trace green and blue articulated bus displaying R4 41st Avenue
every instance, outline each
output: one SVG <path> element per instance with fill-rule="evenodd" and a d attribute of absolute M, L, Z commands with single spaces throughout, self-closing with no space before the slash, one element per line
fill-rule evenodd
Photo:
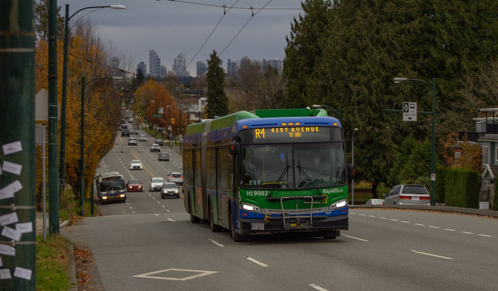
<path fill-rule="evenodd" d="M 250 234 L 348 229 L 344 134 L 323 109 L 240 111 L 191 124 L 183 139 L 185 210 L 193 223 Z"/>

